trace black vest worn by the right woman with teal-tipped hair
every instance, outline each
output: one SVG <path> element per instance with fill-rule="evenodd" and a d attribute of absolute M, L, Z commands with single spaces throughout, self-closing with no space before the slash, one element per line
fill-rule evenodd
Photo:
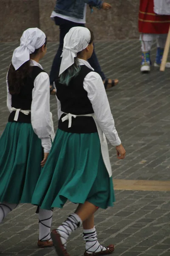
<path fill-rule="evenodd" d="M 56 95 L 61 102 L 61 111 L 64 113 L 71 113 L 74 115 L 85 115 L 94 113 L 90 100 L 88 99 L 88 93 L 83 87 L 83 81 L 85 76 L 92 70 L 85 65 L 80 66 L 78 76 L 71 79 L 68 86 L 60 84 L 59 80 L 56 84 Z M 68 128 L 68 121 L 62 122 L 62 114 L 59 119 L 58 128 L 71 132 L 71 133 L 93 133 L 97 131 L 96 124 L 91 116 L 77 116 L 72 117 L 71 128 Z"/>

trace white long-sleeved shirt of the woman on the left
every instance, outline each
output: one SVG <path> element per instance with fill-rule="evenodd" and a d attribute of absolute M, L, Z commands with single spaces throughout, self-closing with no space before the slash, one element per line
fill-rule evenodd
<path fill-rule="evenodd" d="M 42 66 L 34 60 L 31 60 L 31 66 L 38 66 L 41 69 Z M 6 76 L 7 85 L 7 107 L 11 110 L 11 94 L 8 90 L 8 73 Z M 34 80 L 34 88 L 32 90 L 32 102 L 31 102 L 31 125 L 32 128 L 41 139 L 44 152 L 48 153 L 51 149 L 51 137 L 53 127 L 51 124 L 50 113 L 50 81 L 49 76 L 45 72 L 41 72 Z"/>

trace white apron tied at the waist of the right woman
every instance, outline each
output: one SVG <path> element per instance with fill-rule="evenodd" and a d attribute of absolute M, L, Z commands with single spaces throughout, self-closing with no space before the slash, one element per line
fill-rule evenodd
<path fill-rule="evenodd" d="M 77 116 L 92 116 L 94 119 L 94 122 L 97 127 L 97 132 L 99 134 L 99 140 L 100 140 L 100 145 L 101 145 L 101 152 L 102 152 L 102 158 L 103 162 L 105 163 L 106 169 L 108 171 L 109 177 L 112 176 L 112 170 L 111 170 L 111 162 L 109 158 L 109 151 L 108 151 L 108 143 L 105 137 L 105 134 L 103 133 L 102 129 L 100 128 L 96 116 L 93 114 L 87 114 L 87 115 L 73 115 L 71 113 L 65 113 L 66 116 L 62 117 L 62 122 L 68 120 L 68 128 L 71 127 L 71 122 L 72 122 L 72 117 L 76 118 Z"/>

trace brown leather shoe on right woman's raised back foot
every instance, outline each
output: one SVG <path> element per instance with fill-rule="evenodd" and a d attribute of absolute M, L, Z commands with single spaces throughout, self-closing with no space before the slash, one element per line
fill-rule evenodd
<path fill-rule="evenodd" d="M 60 235 L 57 230 L 51 231 L 51 239 L 53 240 L 53 244 L 58 256 L 70 256 L 62 244 Z"/>

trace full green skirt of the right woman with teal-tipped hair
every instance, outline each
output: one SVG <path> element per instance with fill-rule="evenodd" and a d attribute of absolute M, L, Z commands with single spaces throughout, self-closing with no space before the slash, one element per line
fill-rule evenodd
<path fill-rule="evenodd" d="M 113 181 L 102 159 L 98 133 L 57 131 L 32 204 L 62 208 L 67 200 L 89 201 L 103 209 L 113 206 Z"/>

